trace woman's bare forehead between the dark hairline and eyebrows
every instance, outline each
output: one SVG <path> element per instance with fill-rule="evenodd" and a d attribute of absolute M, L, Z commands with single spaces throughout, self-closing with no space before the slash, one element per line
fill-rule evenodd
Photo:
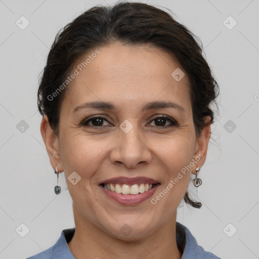
<path fill-rule="evenodd" d="M 99 54 L 93 55 L 96 50 Z M 92 100 L 136 104 L 163 99 L 188 105 L 187 74 L 180 81 L 171 75 L 179 68 L 167 53 L 147 45 L 97 48 L 75 62 L 73 71 L 78 74 L 69 84 L 64 101 L 73 107 Z"/>

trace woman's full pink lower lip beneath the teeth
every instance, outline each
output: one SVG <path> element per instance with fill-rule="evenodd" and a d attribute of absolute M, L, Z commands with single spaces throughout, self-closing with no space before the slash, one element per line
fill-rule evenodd
<path fill-rule="evenodd" d="M 116 193 L 113 191 L 110 191 L 108 189 L 105 189 L 102 185 L 99 185 L 103 192 L 114 201 L 118 202 L 121 205 L 137 205 L 145 200 L 151 198 L 153 193 L 156 191 L 156 189 L 160 186 L 160 184 L 157 184 L 152 189 L 148 190 L 147 192 L 139 193 L 139 194 L 122 194 L 122 193 Z"/>

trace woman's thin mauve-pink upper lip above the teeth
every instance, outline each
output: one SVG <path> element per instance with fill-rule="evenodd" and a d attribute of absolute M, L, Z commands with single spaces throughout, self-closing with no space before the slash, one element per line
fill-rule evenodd
<path fill-rule="evenodd" d="M 148 178 L 148 177 L 114 177 L 102 181 L 100 184 L 127 184 L 127 185 L 134 185 L 134 184 L 159 184 L 158 181 Z"/>

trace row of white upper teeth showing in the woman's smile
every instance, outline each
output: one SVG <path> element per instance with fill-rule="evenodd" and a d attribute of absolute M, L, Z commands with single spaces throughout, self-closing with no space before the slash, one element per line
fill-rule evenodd
<path fill-rule="evenodd" d="M 154 185 L 152 184 L 140 184 L 140 186 L 138 186 L 137 184 L 134 184 L 134 185 L 123 184 L 122 186 L 119 184 L 115 184 L 115 188 L 114 188 L 112 184 L 104 184 L 104 188 L 112 192 L 122 193 L 122 194 L 133 194 L 133 195 L 147 192 L 152 187 L 154 187 Z"/>

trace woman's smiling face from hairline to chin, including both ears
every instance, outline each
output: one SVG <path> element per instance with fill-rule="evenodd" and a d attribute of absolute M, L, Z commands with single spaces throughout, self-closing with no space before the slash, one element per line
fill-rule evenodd
<path fill-rule="evenodd" d="M 45 116 L 42 137 L 81 221 L 120 239 L 145 237 L 175 217 L 191 172 L 205 161 L 210 128 L 196 138 L 188 76 L 172 77 L 181 66 L 168 54 L 120 44 L 98 50 L 82 71 L 91 53 L 75 65 L 59 136 Z"/>

